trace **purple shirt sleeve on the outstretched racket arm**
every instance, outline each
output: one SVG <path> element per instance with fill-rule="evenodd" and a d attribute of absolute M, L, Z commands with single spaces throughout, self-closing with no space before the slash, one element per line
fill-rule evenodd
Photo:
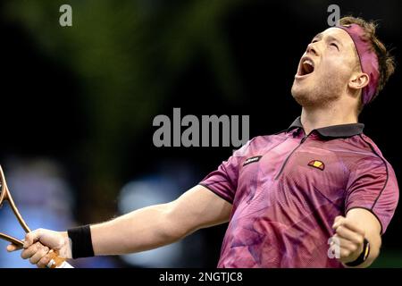
<path fill-rule="evenodd" d="M 219 197 L 233 204 L 233 200 L 238 189 L 239 166 L 243 162 L 246 154 L 248 141 L 243 147 L 236 150 L 227 161 L 223 161 L 218 169 L 210 172 L 199 185 L 213 191 Z"/>

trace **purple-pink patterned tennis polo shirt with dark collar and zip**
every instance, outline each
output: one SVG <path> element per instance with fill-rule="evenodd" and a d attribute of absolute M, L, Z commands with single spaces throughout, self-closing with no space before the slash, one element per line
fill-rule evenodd
<path fill-rule="evenodd" d="M 364 124 L 288 130 L 251 139 L 200 185 L 233 205 L 218 267 L 342 267 L 328 256 L 332 223 L 360 207 L 381 223 L 398 182 Z"/>

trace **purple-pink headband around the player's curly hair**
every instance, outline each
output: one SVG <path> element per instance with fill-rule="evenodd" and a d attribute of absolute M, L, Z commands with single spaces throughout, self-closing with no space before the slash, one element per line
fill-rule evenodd
<path fill-rule="evenodd" d="M 345 30 L 355 43 L 362 71 L 370 77 L 369 83 L 363 88 L 363 104 L 368 104 L 374 97 L 380 78 L 378 58 L 373 52 L 371 44 L 364 40 L 364 30 L 357 24 L 335 26 Z"/>

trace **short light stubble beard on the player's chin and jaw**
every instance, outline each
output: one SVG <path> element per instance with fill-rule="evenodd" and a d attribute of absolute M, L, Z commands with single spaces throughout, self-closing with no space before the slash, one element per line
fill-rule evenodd
<path fill-rule="evenodd" d="M 325 107 L 339 100 L 345 82 L 334 72 L 315 73 L 306 79 L 294 80 L 291 94 L 303 107 Z"/>

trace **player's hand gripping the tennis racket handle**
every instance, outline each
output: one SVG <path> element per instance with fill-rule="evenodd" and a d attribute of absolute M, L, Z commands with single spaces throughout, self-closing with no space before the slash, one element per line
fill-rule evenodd
<path fill-rule="evenodd" d="M 40 268 L 46 267 L 50 262 L 52 251 L 57 251 L 58 257 L 71 258 L 71 245 L 67 232 L 38 229 L 27 233 L 24 240 L 21 257 L 29 259 L 32 265 Z M 7 251 L 17 250 L 13 244 L 7 246 Z"/>

